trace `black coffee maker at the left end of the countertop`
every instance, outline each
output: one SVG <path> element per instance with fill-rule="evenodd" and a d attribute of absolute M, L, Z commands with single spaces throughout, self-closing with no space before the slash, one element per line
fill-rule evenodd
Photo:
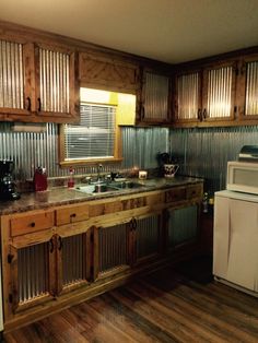
<path fill-rule="evenodd" d="M 0 199 L 16 200 L 20 193 L 13 180 L 13 161 L 0 159 Z"/>

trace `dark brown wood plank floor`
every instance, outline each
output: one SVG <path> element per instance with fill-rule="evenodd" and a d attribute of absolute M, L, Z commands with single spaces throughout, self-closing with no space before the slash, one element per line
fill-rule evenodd
<path fill-rule="evenodd" d="M 258 299 L 209 281 L 197 263 L 139 277 L 8 333 L 5 342 L 257 343 Z"/>

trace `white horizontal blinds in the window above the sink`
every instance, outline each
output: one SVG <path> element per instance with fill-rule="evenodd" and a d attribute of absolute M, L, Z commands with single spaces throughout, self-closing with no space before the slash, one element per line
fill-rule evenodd
<path fill-rule="evenodd" d="M 114 157 L 116 106 L 81 104 L 81 125 L 64 126 L 66 161 Z"/>

